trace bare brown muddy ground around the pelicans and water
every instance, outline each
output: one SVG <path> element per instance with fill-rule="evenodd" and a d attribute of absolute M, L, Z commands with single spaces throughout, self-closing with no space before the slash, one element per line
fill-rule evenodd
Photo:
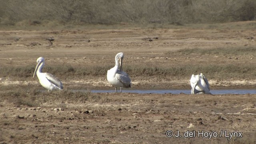
<path fill-rule="evenodd" d="M 179 64 L 256 64 L 253 57 L 171 54 L 182 48 L 210 49 L 255 46 L 256 30 L 140 29 L 0 31 L 0 66 L 114 65 L 124 52 L 124 66 L 132 64 L 176 66 Z M 54 38 L 50 42 L 46 38 Z M 44 90 L 38 79 L 1 76 L 1 87 Z M 106 76 L 58 76 L 69 89 L 113 89 Z M 190 76 L 162 79 L 136 76 L 132 89 L 189 89 Z M 256 80 L 209 80 L 213 89 L 252 88 Z M 13 87 L 12 87 L 13 86 Z M 52 101 L 44 92 L 37 105 L 17 104 L 1 92 L 1 143 L 256 143 L 256 95 L 193 95 L 90 93 L 85 101 L 61 98 Z M 42 94 L 40 94 L 41 96 Z M 56 93 L 55 95 L 58 95 Z M 96 100 L 94 99 L 96 98 Z M 49 100 L 48 100 L 49 98 Z M 36 100 L 36 99 L 35 99 Z M 180 137 L 166 136 L 166 131 Z M 195 130 L 194 138 L 184 134 Z M 217 137 L 198 137 L 210 132 Z M 222 135 L 220 136 L 220 133 Z M 226 132 L 226 134 L 225 134 Z M 228 138 L 234 132 L 235 137 Z M 241 133 L 242 132 L 242 133 Z M 241 137 L 242 136 L 242 137 Z"/>

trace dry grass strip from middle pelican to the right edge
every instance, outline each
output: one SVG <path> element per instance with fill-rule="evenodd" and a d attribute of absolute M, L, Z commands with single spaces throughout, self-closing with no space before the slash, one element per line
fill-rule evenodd
<path fill-rule="evenodd" d="M 246 79 L 256 77 L 256 67 L 251 65 L 207 65 L 202 64 L 200 66 L 194 64 L 184 64 L 173 67 L 166 66 L 126 66 L 124 71 L 130 76 L 158 76 L 159 78 L 168 77 L 187 77 L 192 74 L 198 74 L 203 72 L 207 78 L 230 80 L 230 78 Z"/>

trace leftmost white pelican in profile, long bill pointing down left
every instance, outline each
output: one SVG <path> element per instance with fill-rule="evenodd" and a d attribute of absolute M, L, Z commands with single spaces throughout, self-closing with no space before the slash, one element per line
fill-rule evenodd
<path fill-rule="evenodd" d="M 56 76 L 53 76 L 52 74 L 49 74 L 47 72 L 42 72 L 42 68 L 44 67 L 44 58 L 39 57 L 36 60 L 36 62 L 37 62 L 37 65 L 33 74 L 33 78 L 35 75 L 37 75 L 40 84 L 44 88 L 46 88 L 48 91 L 62 90 L 63 89 L 62 82 Z"/>

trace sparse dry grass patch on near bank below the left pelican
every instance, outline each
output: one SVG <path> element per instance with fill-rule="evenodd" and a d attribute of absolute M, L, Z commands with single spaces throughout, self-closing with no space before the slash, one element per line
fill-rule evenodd
<path fill-rule="evenodd" d="M 61 91 L 40 91 L 33 87 L 25 86 L 2 86 L 1 87 L 1 101 L 7 100 L 10 103 L 17 104 L 17 106 L 40 106 L 42 103 L 48 102 L 56 104 L 60 108 L 65 108 L 66 105 L 62 104 L 63 101 L 73 103 L 84 103 L 90 102 L 106 102 L 107 97 L 98 96 L 92 94 L 88 90 L 84 91 L 72 91 L 72 90 L 61 90 Z"/>

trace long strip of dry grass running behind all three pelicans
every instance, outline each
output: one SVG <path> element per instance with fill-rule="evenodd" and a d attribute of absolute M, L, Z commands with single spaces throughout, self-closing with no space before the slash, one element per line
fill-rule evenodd
<path fill-rule="evenodd" d="M 249 52 L 248 52 L 249 53 Z M 87 66 L 85 67 L 70 67 L 70 66 L 47 66 L 44 72 L 50 72 L 51 74 L 65 80 L 65 78 L 79 78 L 83 79 L 88 76 L 91 77 L 106 77 L 107 71 L 112 65 L 106 66 Z M 154 76 L 156 78 L 168 77 L 187 77 L 191 74 L 197 74 L 203 72 L 207 78 L 229 80 L 230 78 L 236 79 L 256 79 L 256 66 L 250 64 L 183 64 L 175 66 L 164 65 L 126 65 L 124 71 L 129 76 L 135 78 L 146 78 L 148 76 Z M 0 72 L 4 77 L 10 77 L 16 80 L 32 80 L 34 68 L 32 66 L 18 66 L 18 67 L 2 67 Z"/>

